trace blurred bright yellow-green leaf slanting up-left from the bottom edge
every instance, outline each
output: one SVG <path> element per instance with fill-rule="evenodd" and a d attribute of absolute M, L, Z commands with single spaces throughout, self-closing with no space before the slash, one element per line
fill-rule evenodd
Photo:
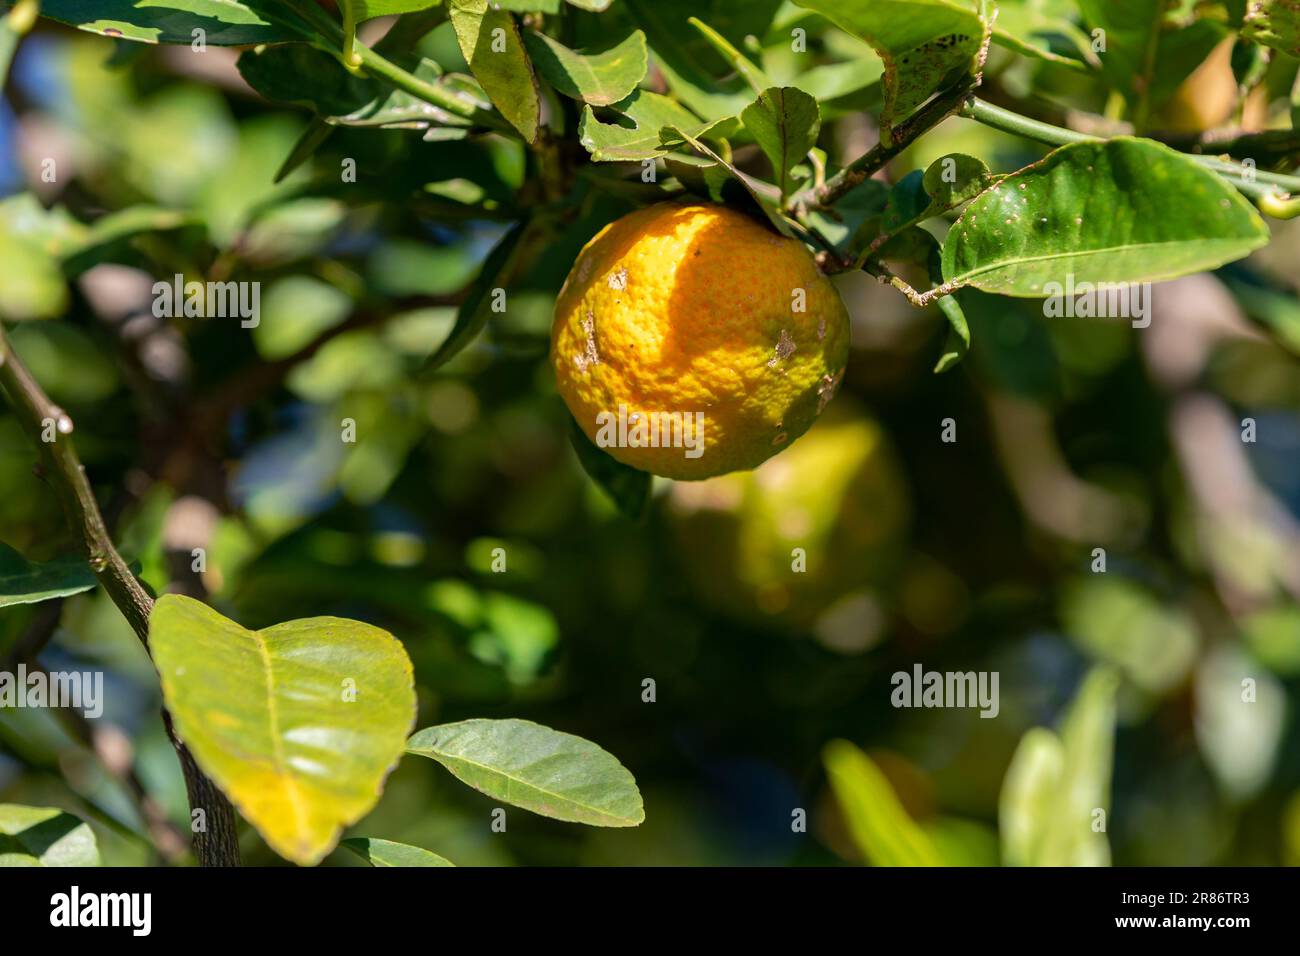
<path fill-rule="evenodd" d="M 822 762 L 853 842 L 872 865 L 942 865 L 939 851 L 867 754 L 848 740 L 832 740 Z"/>

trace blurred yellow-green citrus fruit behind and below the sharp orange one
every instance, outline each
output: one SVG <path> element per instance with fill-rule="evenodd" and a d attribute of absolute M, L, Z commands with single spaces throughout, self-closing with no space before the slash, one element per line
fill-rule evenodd
<path fill-rule="evenodd" d="M 884 429 L 837 402 L 786 454 L 740 475 L 673 485 L 685 578 L 733 617 L 811 627 L 896 568 L 907 481 Z M 798 550 L 796 550 L 798 549 Z"/>

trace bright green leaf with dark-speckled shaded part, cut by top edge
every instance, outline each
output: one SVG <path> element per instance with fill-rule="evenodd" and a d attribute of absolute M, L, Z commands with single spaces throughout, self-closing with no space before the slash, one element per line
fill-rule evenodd
<path fill-rule="evenodd" d="M 975 69 L 987 26 L 967 0 L 794 0 L 885 61 L 883 131 Z"/>

